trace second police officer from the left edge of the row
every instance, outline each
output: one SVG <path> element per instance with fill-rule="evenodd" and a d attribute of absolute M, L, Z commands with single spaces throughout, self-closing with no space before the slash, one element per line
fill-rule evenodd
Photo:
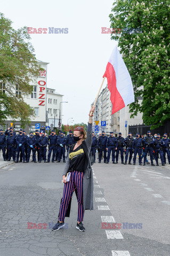
<path fill-rule="evenodd" d="M 15 162 L 15 147 L 16 147 L 16 135 L 13 134 L 13 131 L 10 131 L 10 134 L 7 135 L 6 145 L 8 150 L 8 159 L 7 161 L 11 161 L 11 157 L 13 158 L 13 162 Z"/>

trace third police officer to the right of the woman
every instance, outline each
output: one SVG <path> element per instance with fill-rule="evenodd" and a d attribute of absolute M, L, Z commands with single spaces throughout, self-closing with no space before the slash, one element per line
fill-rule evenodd
<path fill-rule="evenodd" d="M 117 138 L 114 137 L 113 132 L 110 132 L 110 137 L 107 138 L 107 142 L 106 142 L 106 150 L 108 151 L 106 164 L 109 163 L 111 152 L 112 152 L 112 163 L 115 164 L 116 149 L 117 149 Z"/>

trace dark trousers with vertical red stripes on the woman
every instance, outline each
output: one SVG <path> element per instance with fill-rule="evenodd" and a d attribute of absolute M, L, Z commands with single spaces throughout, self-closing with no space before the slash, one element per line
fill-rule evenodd
<path fill-rule="evenodd" d="M 78 217 L 77 221 L 83 221 L 83 172 L 72 171 L 70 181 L 64 184 L 63 197 L 60 205 L 59 220 L 64 221 L 72 193 L 77 189 Z"/>

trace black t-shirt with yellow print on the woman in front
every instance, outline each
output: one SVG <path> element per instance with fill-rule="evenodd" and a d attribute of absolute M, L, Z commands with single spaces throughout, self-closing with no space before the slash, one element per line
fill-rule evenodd
<path fill-rule="evenodd" d="M 70 159 L 70 167 L 69 171 L 78 171 L 84 172 L 85 167 L 85 153 L 82 147 L 82 144 L 73 150 L 74 147 L 70 148 L 69 151 L 69 159 Z"/>

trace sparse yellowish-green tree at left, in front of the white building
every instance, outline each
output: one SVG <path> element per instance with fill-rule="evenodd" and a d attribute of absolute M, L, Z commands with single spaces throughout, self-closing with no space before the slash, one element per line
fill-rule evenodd
<path fill-rule="evenodd" d="M 25 127 L 34 116 L 24 97 L 33 91 L 30 83 L 36 81 L 42 68 L 29 40 L 26 27 L 14 30 L 12 21 L 0 13 L 0 123 L 9 117 L 20 119 Z"/>

